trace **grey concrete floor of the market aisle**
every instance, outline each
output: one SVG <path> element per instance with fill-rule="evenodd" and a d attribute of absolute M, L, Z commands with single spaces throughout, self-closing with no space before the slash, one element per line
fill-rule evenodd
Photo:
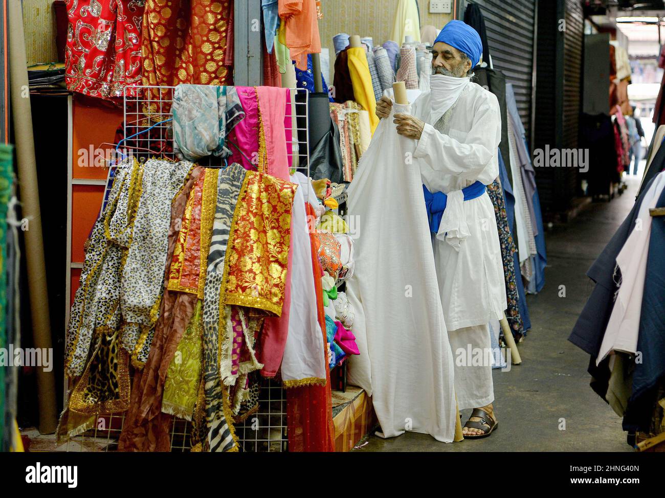
<path fill-rule="evenodd" d="M 634 202 L 639 182 L 626 183 L 611 202 L 591 203 L 547 232 L 545 287 L 527 297 L 532 328 L 519 344 L 522 364 L 493 370 L 499 427 L 491 436 L 451 444 L 413 432 L 370 436 L 356 451 L 632 451 L 621 419 L 589 387 L 589 356 L 567 340 L 593 289 L 585 273 Z M 463 423 L 470 412 L 462 412 Z"/>

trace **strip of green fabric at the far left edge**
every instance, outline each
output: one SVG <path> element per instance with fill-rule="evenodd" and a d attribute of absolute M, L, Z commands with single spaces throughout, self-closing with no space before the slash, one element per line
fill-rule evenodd
<path fill-rule="evenodd" d="M 5 316 L 7 314 L 7 203 L 11 197 L 13 178 L 13 146 L 0 144 L 0 348 L 9 346 Z M 17 345 L 18 346 L 18 345 Z M 5 389 L 6 367 L 0 367 L 0 451 L 9 451 L 5 443 L 5 408 L 7 408 L 7 390 Z"/>

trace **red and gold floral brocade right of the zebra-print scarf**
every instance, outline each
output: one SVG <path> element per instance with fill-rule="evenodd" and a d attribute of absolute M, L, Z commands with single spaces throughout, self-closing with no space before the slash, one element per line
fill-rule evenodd
<path fill-rule="evenodd" d="M 297 186 L 248 171 L 233 213 L 221 302 L 281 315 Z"/>

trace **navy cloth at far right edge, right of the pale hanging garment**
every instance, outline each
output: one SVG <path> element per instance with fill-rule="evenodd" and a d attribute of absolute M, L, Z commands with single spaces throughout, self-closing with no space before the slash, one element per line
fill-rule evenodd
<path fill-rule="evenodd" d="M 646 191 L 646 189 L 645 189 Z M 665 189 L 656 207 L 665 207 Z M 635 364 L 632 395 L 624 415 L 624 430 L 649 428 L 658 386 L 665 379 L 665 217 L 651 220 L 649 253 L 646 259 L 644 295 L 640 311 L 637 350 L 642 363 Z"/>

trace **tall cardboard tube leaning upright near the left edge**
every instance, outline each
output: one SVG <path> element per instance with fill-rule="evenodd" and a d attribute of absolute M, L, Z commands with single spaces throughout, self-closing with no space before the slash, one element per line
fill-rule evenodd
<path fill-rule="evenodd" d="M 44 241 L 42 238 L 37 168 L 35 166 L 35 140 L 30 98 L 23 92 L 29 88 L 23 36 L 23 13 L 21 2 L 9 2 L 9 88 L 11 93 L 12 118 L 16 140 L 17 170 L 23 216 L 29 219 L 29 229 L 23 231 L 25 239 L 25 261 L 28 273 L 30 309 L 33 321 L 35 348 L 51 348 L 51 321 L 49 319 L 49 295 L 46 287 L 44 263 Z M 19 346 L 17 344 L 16 346 Z M 55 403 L 55 376 L 53 370 L 46 372 L 41 365 L 37 372 L 37 394 L 39 400 L 39 432 L 52 434 L 57 427 Z"/>

